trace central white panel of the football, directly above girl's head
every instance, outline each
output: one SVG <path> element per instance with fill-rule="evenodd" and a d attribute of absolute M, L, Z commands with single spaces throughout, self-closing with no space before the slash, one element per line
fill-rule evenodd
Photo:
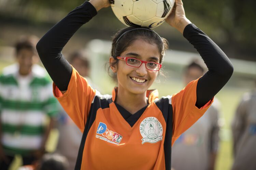
<path fill-rule="evenodd" d="M 145 21 L 155 17 L 156 15 L 156 3 L 148 0 L 139 0 L 134 2 L 134 8 L 132 15 L 139 20 Z"/>

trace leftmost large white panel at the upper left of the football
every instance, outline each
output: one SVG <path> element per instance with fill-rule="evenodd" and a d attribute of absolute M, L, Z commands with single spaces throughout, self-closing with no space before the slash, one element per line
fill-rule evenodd
<path fill-rule="evenodd" d="M 115 15 L 128 16 L 132 14 L 133 3 L 132 0 L 115 0 L 114 6 L 111 7 Z"/>

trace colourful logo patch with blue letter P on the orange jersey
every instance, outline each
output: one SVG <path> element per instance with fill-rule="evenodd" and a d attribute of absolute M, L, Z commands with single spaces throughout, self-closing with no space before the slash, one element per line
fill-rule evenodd
<path fill-rule="evenodd" d="M 110 131 L 107 128 L 106 124 L 102 123 L 102 122 L 99 123 L 96 133 L 102 135 L 102 136 L 100 136 L 100 135 L 96 134 L 96 138 L 105 140 L 105 141 L 107 141 L 109 143 L 113 143 L 115 145 L 119 145 L 119 143 L 121 142 L 121 140 L 123 138 L 123 136 L 119 135 L 118 133 Z"/>

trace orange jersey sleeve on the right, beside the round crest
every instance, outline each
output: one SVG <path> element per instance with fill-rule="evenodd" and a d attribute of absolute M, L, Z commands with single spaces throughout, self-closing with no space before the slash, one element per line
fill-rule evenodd
<path fill-rule="evenodd" d="M 192 126 L 213 102 L 211 99 L 203 107 L 196 107 L 197 83 L 198 80 L 190 82 L 183 90 L 173 95 L 172 109 L 173 109 L 173 132 L 172 145 L 179 136 Z"/>

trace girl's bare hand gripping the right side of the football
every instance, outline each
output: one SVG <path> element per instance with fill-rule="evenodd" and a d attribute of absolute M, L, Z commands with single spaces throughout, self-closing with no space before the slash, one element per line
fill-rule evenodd
<path fill-rule="evenodd" d="M 183 33 L 184 28 L 191 22 L 186 18 L 182 0 L 175 0 L 172 12 L 165 21 Z"/>

